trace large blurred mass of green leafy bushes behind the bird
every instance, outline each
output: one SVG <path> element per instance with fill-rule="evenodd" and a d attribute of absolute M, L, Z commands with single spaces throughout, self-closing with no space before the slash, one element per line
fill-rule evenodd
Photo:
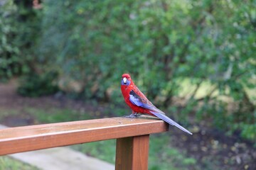
<path fill-rule="evenodd" d="M 4 12 L 24 15 L 8 2 Z M 180 113 L 176 120 L 193 112 L 255 139 L 255 1 L 45 0 L 25 9 L 32 19 L 1 21 L 9 32 L 1 27 L 0 52 L 11 64 L 18 57 L 28 72 L 58 72 L 80 83 L 80 96 L 116 103 L 119 77 L 129 72 L 154 103 Z M 9 74 L 2 56 L 1 74 Z"/>

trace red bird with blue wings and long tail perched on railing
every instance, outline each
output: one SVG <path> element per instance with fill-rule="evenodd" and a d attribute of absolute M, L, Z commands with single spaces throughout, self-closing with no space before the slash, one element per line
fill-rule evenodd
<path fill-rule="evenodd" d="M 164 112 L 156 108 L 156 106 L 154 106 L 149 99 L 142 94 L 142 91 L 139 91 L 129 74 L 122 74 L 121 91 L 124 96 L 125 103 L 132 108 L 132 114 L 127 117 L 134 118 L 140 115 L 138 113 L 146 113 L 156 116 L 170 125 L 175 125 L 177 128 L 192 135 L 191 132 L 183 128 L 181 125 L 178 125 L 174 120 L 168 118 Z"/>

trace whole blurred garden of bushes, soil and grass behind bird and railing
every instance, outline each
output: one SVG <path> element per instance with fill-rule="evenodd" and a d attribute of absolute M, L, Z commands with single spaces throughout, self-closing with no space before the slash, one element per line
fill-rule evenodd
<path fill-rule="evenodd" d="M 129 115 L 127 72 L 194 134 L 152 135 L 150 169 L 256 167 L 255 0 L 1 0 L 0 17 L 0 123 Z M 73 147 L 113 163 L 114 146 Z"/>

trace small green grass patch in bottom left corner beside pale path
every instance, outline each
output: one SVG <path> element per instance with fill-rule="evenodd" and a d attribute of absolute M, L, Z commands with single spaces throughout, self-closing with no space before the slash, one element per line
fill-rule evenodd
<path fill-rule="evenodd" d="M 0 169 L 3 170 L 38 170 L 35 166 L 24 164 L 8 156 L 0 157 Z"/>

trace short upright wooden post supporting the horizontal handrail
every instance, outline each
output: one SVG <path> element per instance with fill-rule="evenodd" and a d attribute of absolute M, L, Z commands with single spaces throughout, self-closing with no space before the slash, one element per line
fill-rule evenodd
<path fill-rule="evenodd" d="M 147 170 L 149 135 L 117 139 L 116 170 Z"/>

